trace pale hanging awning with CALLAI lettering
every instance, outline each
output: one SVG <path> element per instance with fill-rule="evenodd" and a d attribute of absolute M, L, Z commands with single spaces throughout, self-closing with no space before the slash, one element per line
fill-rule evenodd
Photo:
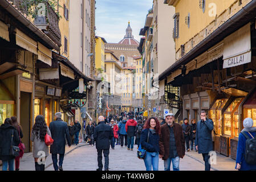
<path fill-rule="evenodd" d="M 251 62 L 250 23 L 224 39 L 223 68 Z"/>

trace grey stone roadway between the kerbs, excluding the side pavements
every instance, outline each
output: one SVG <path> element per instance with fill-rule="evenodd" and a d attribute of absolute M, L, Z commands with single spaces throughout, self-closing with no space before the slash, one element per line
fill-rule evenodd
<path fill-rule="evenodd" d="M 97 151 L 94 146 L 79 147 L 64 157 L 64 171 L 95 171 L 96 168 Z M 54 168 L 51 165 L 46 168 L 46 171 L 52 171 L 53 169 Z M 135 145 L 133 151 L 128 151 L 127 148 L 121 148 L 120 146 L 115 146 L 115 150 L 110 148 L 109 170 L 145 171 L 144 161 L 137 158 L 137 145 Z M 159 170 L 164 171 L 164 162 L 162 159 L 159 160 Z M 202 171 L 204 170 L 204 164 L 190 158 L 189 156 L 184 156 L 184 159 L 180 160 L 180 170 Z"/>

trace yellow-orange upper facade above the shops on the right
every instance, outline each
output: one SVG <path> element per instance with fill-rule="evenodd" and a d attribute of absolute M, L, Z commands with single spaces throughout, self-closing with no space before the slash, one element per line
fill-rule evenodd
<path fill-rule="evenodd" d="M 175 7 L 173 18 L 176 35 L 173 36 L 176 59 L 180 59 L 183 45 L 184 53 L 188 53 L 249 2 L 251 0 L 201 0 L 196 3 L 190 0 L 165 0 L 166 4 Z"/>

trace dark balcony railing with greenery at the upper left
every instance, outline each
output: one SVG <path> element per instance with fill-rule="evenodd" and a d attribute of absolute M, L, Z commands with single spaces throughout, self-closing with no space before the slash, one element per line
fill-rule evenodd
<path fill-rule="evenodd" d="M 38 3 L 32 3 L 30 0 L 10 0 L 13 2 L 13 5 L 25 14 L 26 18 L 30 20 L 30 22 L 34 23 L 37 28 L 42 30 L 44 34 L 46 34 L 52 41 L 57 44 L 59 47 L 61 44 L 61 34 L 59 29 L 59 16 L 56 14 L 54 8 L 48 2 L 42 3 L 44 6 L 38 6 Z M 35 12 L 31 11 L 31 7 L 39 7 L 40 13 L 31 13 Z M 45 9 L 45 10 L 42 10 Z M 39 10 L 38 10 L 39 11 Z M 46 14 L 42 14 L 42 12 L 46 12 Z"/>

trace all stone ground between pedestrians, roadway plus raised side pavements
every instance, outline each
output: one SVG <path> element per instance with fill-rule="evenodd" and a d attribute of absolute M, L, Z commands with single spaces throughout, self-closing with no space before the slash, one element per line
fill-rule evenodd
<path fill-rule="evenodd" d="M 104 157 L 103 157 L 104 165 Z M 211 170 L 235 170 L 235 160 L 217 154 L 217 164 L 212 165 Z M 32 153 L 26 153 L 21 159 L 20 171 L 34 171 L 34 158 Z M 66 147 L 64 156 L 64 171 L 95 171 L 97 168 L 97 150 L 95 146 L 86 143 L 79 143 L 78 146 Z M 115 146 L 115 150 L 110 148 L 109 170 L 111 171 L 145 171 L 144 161 L 137 158 L 137 145 L 133 151 L 127 148 Z M 164 162 L 159 159 L 159 171 L 164 170 Z M 172 170 L 172 165 L 171 165 Z M 186 152 L 183 159 L 180 159 L 181 171 L 204 171 L 204 161 L 202 155 L 196 151 Z M 54 171 L 51 155 L 46 159 L 46 171 Z"/>

